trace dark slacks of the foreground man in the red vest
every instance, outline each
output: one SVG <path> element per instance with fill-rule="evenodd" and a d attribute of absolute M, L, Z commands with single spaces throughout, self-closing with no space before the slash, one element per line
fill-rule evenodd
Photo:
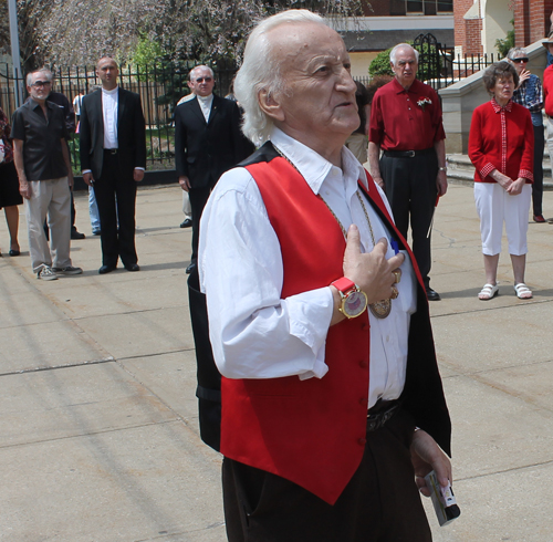
<path fill-rule="evenodd" d="M 229 542 L 430 542 L 410 461 L 413 430 L 410 416 L 399 410 L 383 428 L 367 431 L 361 466 L 334 505 L 225 458 Z"/>

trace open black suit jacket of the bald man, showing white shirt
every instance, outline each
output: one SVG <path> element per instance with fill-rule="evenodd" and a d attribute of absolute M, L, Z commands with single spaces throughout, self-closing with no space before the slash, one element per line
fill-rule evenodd
<path fill-rule="evenodd" d="M 92 169 L 95 179 L 102 176 L 104 160 L 104 115 L 102 91 L 84 97 L 81 106 L 81 169 Z M 119 167 L 132 175 L 135 167 L 146 168 L 146 123 L 140 96 L 118 87 L 117 143 Z"/>

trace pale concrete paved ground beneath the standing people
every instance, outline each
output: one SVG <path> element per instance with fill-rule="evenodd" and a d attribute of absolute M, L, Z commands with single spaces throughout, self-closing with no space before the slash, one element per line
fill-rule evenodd
<path fill-rule="evenodd" d="M 77 227 L 90 232 L 85 194 Z M 198 437 L 195 357 L 177 186 L 137 200 L 142 271 L 98 275 L 100 239 L 74 241 L 80 277 L 53 282 L 0 259 L 0 541 L 223 542 L 220 457 Z M 545 194 L 553 216 L 553 192 Z M 0 220 L 0 246 L 9 249 Z M 462 515 L 430 522 L 437 542 L 553 540 L 553 226 L 531 223 L 517 300 L 508 257 L 500 295 L 482 286 L 472 190 L 437 211 L 431 304 L 453 421 Z"/>

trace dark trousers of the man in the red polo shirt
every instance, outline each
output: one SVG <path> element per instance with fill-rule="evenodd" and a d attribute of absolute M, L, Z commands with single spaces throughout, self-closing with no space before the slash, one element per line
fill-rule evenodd
<path fill-rule="evenodd" d="M 438 157 L 436 153 L 408 157 L 380 158 L 380 175 L 386 196 L 399 232 L 407 239 L 409 222 L 413 236 L 413 252 L 420 274 L 428 288 L 431 268 L 430 236 L 438 188 Z"/>

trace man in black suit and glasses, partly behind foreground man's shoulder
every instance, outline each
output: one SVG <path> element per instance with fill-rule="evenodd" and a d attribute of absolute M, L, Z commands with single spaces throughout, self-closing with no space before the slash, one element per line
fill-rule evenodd
<path fill-rule="evenodd" d="M 213 94 L 213 72 L 196 66 L 188 86 L 195 97 L 175 110 L 175 158 L 178 181 L 190 195 L 192 208 L 192 254 L 189 273 L 196 265 L 201 212 L 219 177 L 246 158 L 248 150 L 240 132 L 236 102 Z"/>

